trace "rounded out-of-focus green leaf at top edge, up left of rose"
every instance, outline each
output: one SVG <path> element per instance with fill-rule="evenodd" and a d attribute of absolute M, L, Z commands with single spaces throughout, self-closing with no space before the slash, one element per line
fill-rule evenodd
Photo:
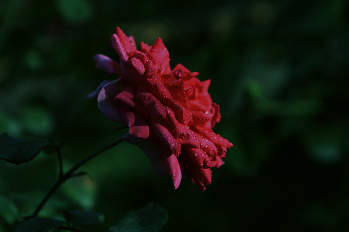
<path fill-rule="evenodd" d="M 87 0 L 57 0 L 56 2 L 62 17 L 70 24 L 86 23 L 93 16 L 93 6 Z"/>

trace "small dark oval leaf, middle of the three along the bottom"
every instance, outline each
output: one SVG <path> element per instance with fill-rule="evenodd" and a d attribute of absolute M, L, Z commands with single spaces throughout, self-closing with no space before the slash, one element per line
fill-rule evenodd
<path fill-rule="evenodd" d="M 102 214 L 88 210 L 75 210 L 73 212 L 64 210 L 64 217 L 68 223 L 74 225 L 96 225 L 104 221 Z"/>

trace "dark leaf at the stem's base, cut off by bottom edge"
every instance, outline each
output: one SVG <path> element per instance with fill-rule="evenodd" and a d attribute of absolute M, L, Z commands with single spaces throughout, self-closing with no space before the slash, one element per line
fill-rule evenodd
<path fill-rule="evenodd" d="M 52 218 L 31 218 L 18 225 L 14 232 L 48 232 L 50 229 L 58 228 L 65 222 Z"/>

